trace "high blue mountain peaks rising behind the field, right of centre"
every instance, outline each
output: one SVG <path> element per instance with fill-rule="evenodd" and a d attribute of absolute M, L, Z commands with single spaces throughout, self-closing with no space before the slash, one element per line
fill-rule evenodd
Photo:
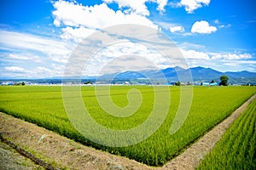
<path fill-rule="evenodd" d="M 219 77 L 222 75 L 226 75 L 230 77 L 229 82 L 254 82 L 256 83 L 256 73 L 249 72 L 249 71 L 237 71 L 237 72 L 221 72 L 215 71 L 212 68 L 205 68 L 205 67 L 194 67 L 188 70 L 185 70 L 181 67 L 175 68 L 166 68 L 160 71 L 156 70 L 145 70 L 145 71 L 124 71 L 124 72 L 116 72 L 113 74 L 106 74 L 102 77 L 98 77 L 99 79 L 112 79 L 113 77 L 115 80 L 131 80 L 131 79 L 143 79 L 143 78 L 150 78 L 150 79 L 159 79 L 162 75 L 165 75 L 166 79 L 169 82 L 176 82 L 178 81 L 178 75 L 189 75 L 189 71 L 191 72 L 191 76 L 193 82 L 210 82 L 212 79 L 215 82 L 219 81 Z"/>

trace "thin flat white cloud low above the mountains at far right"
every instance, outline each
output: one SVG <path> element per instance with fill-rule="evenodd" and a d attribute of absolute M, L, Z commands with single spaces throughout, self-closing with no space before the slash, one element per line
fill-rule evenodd
<path fill-rule="evenodd" d="M 251 59 L 253 56 L 251 54 L 214 54 L 211 59 Z"/>

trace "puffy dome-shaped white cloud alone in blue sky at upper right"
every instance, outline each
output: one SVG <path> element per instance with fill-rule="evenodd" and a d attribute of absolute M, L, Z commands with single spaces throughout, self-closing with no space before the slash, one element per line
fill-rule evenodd
<path fill-rule="evenodd" d="M 211 34 L 215 31 L 217 31 L 217 28 L 210 26 L 206 20 L 196 21 L 191 28 L 192 33 Z"/>

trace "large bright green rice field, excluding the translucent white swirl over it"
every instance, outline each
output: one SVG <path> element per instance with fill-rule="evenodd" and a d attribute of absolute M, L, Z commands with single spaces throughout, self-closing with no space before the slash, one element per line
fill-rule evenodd
<path fill-rule="evenodd" d="M 98 105 L 93 87 L 82 87 L 84 105 L 90 116 L 105 127 L 137 127 L 152 111 L 154 91 L 150 86 L 114 86 L 111 88 L 113 102 L 121 107 L 127 105 L 129 102 L 126 94 L 131 88 L 137 88 L 143 96 L 140 109 L 132 116 L 117 118 L 108 115 Z M 176 156 L 184 146 L 206 133 L 256 93 L 256 88 L 253 87 L 195 87 L 189 116 L 177 133 L 171 135 L 169 130 L 179 105 L 180 88 L 170 87 L 169 90 L 171 105 L 165 122 L 148 139 L 128 147 L 102 146 L 78 133 L 65 112 L 61 87 L 0 87 L 0 111 L 36 123 L 96 149 L 159 166 Z"/>

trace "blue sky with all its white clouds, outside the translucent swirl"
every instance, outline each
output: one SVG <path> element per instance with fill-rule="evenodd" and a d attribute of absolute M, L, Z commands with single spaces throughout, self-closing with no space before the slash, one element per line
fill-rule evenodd
<path fill-rule="evenodd" d="M 254 0 L 2 0 L 0 77 L 61 77 L 83 38 L 127 23 L 164 32 L 190 67 L 256 72 L 255 6 Z"/>

